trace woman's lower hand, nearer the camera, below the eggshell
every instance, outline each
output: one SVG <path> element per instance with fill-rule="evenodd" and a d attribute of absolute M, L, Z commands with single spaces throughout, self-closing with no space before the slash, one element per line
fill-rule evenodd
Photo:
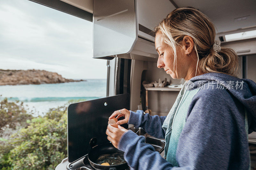
<path fill-rule="evenodd" d="M 114 127 L 115 126 L 115 127 Z M 122 135 L 128 130 L 117 124 L 108 124 L 106 134 L 108 135 L 108 140 L 117 148 L 118 143 Z M 118 148 L 117 148 L 118 149 Z"/>

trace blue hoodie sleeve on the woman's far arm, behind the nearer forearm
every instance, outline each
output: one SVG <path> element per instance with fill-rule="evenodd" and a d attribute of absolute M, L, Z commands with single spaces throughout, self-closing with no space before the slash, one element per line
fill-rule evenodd
<path fill-rule="evenodd" d="M 166 116 L 150 116 L 148 113 L 144 115 L 143 110 L 133 112 L 130 110 L 130 118 L 128 124 L 133 124 L 135 128 L 143 128 L 149 135 L 164 139 L 165 131 L 162 128 Z"/>

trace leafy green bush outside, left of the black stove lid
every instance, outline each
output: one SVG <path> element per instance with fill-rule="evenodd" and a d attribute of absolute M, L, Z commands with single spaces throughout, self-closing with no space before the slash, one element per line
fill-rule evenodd
<path fill-rule="evenodd" d="M 0 138 L 0 169 L 55 169 L 67 157 L 67 105 L 25 122 L 8 139 Z"/>

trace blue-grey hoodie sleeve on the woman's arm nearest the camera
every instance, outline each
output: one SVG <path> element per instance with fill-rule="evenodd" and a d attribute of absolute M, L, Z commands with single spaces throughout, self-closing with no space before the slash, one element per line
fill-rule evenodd
<path fill-rule="evenodd" d="M 236 104 L 228 92 L 203 92 L 194 96 L 176 152 L 176 159 L 180 167 L 172 167 L 172 164 L 162 158 L 153 146 L 145 143 L 145 137 L 137 136 L 132 131 L 123 134 L 118 149 L 124 151 L 124 159 L 130 167 L 140 170 L 228 169 L 234 167 L 237 164 L 235 160 L 233 162 L 231 160 L 231 150 L 236 142 L 238 127 L 233 120 L 231 106 L 235 107 Z M 246 141 L 245 129 L 244 134 L 244 141 Z M 239 145 L 246 144 L 248 145 L 246 142 L 239 143 Z M 248 155 L 242 156 L 247 157 Z M 231 162 L 234 165 L 231 165 Z M 243 164 L 249 165 L 248 162 Z"/>

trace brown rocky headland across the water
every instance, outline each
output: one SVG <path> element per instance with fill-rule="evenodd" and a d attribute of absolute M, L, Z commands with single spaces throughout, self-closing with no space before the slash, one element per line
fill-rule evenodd
<path fill-rule="evenodd" d="M 0 70 L 0 85 L 39 85 L 77 81 L 86 80 L 67 79 L 58 73 L 45 70 Z"/>

